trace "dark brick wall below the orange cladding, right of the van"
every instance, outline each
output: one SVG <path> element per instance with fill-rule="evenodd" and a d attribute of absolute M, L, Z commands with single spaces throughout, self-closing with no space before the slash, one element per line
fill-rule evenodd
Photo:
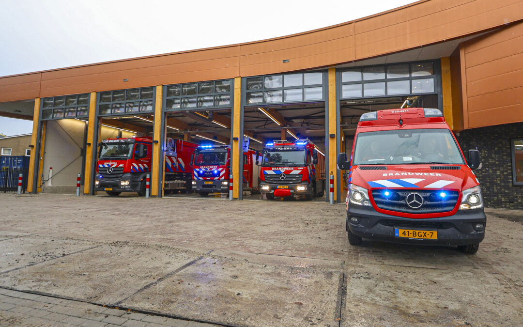
<path fill-rule="evenodd" d="M 480 151 L 483 167 L 475 170 L 486 207 L 523 209 L 523 186 L 512 184 L 510 139 L 523 137 L 523 122 L 464 130 L 456 136 L 467 156 Z"/>

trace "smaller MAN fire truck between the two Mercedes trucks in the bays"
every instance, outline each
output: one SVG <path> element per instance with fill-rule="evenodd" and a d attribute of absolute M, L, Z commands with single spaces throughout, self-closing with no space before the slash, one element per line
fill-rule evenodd
<path fill-rule="evenodd" d="M 256 151 L 243 153 L 243 190 L 259 194 L 258 167 L 259 157 Z M 201 196 L 209 193 L 228 193 L 229 175 L 231 174 L 230 145 L 200 145 L 194 157 L 192 189 Z"/>

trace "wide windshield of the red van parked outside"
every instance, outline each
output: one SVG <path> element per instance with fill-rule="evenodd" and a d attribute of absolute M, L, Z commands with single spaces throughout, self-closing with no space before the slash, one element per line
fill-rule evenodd
<path fill-rule="evenodd" d="M 447 129 L 390 130 L 359 133 L 354 164 L 463 164 L 463 157 Z"/>

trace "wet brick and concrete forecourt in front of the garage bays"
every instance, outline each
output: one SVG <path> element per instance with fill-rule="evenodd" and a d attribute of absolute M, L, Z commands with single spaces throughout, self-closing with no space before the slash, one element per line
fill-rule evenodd
<path fill-rule="evenodd" d="M 0 294 L 37 292 L 184 324 L 523 323 L 523 224 L 498 218 L 499 210 L 487 210 L 485 241 L 465 255 L 450 247 L 350 246 L 344 206 L 322 202 L 0 201 Z M 0 325 L 17 325 L 20 317 L 6 318 L 17 307 L 7 307 L 0 296 Z"/>

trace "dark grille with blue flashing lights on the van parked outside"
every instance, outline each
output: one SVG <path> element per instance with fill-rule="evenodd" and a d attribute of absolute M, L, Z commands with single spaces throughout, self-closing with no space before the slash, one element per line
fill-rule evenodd
<path fill-rule="evenodd" d="M 458 191 L 445 191 L 442 198 L 440 191 L 435 190 L 416 190 L 416 189 L 387 189 L 389 195 L 386 196 L 383 189 L 372 190 L 374 202 L 380 209 L 392 210 L 405 213 L 437 213 L 452 211 L 458 201 Z M 423 197 L 423 204 L 419 208 L 412 208 L 407 205 L 407 196 L 417 193 Z M 416 207 L 417 204 L 413 203 Z"/>

